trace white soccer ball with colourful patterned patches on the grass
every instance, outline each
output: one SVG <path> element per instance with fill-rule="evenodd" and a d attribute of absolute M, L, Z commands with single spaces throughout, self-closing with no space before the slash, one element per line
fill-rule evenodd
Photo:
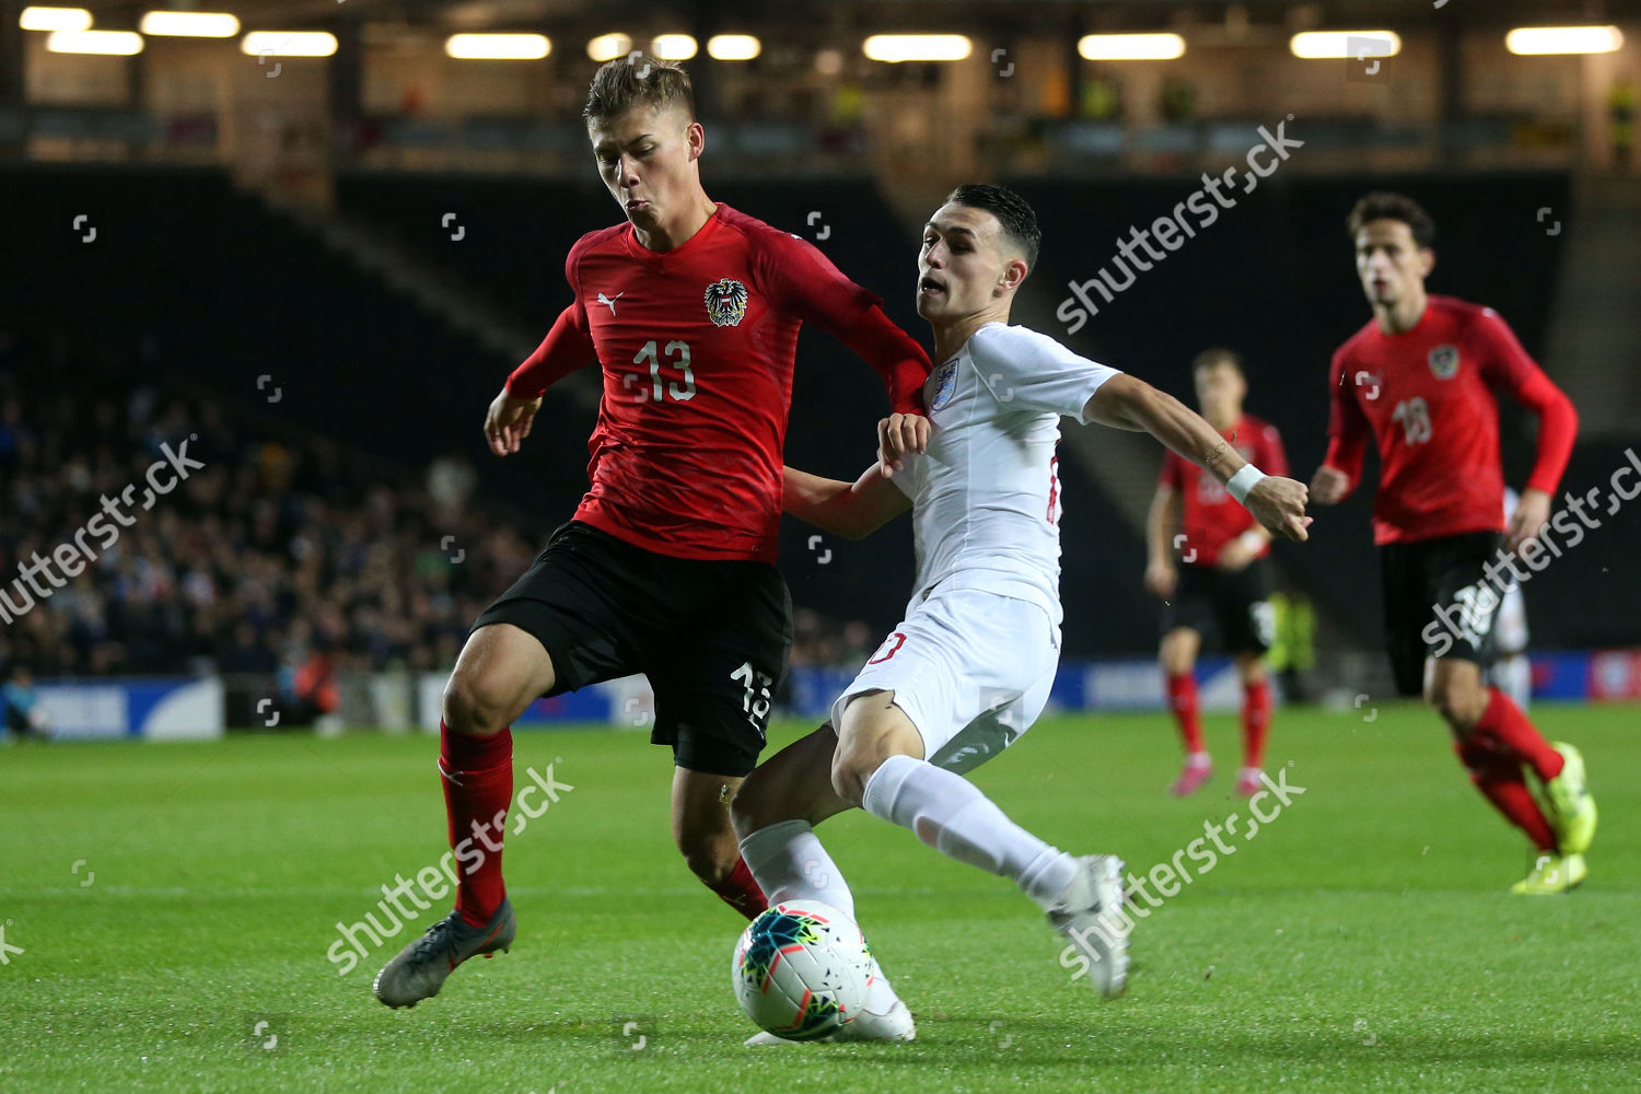
<path fill-rule="evenodd" d="M 788 900 L 747 925 L 730 973 L 748 1019 L 778 1037 L 807 1042 L 860 1014 L 871 948 L 860 927 L 830 904 Z"/>

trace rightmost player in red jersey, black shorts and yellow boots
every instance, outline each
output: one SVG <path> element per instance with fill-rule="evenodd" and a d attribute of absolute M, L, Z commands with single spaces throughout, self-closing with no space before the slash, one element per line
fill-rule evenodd
<path fill-rule="evenodd" d="M 1511 551 L 1549 522 L 1579 418 L 1497 312 L 1426 295 L 1436 225 L 1416 202 L 1369 194 L 1349 230 L 1374 320 L 1334 353 L 1328 456 L 1311 499 L 1328 505 L 1351 494 L 1372 435 L 1380 458 L 1374 540 L 1396 687 L 1423 694 L 1441 713 L 1475 787 L 1538 848 L 1533 871 L 1511 891 L 1566 892 L 1584 881 L 1595 835 L 1584 758 L 1546 741 L 1483 672 L 1515 572 Z M 1533 474 L 1508 522 L 1495 390 L 1539 425 Z M 1543 807 L 1524 769 L 1544 789 Z"/>

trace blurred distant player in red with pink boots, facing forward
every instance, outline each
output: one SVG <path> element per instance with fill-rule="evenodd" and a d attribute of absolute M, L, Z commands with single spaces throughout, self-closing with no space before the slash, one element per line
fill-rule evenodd
<path fill-rule="evenodd" d="M 1236 353 L 1216 348 L 1198 354 L 1191 379 L 1203 417 L 1237 454 L 1267 474 L 1287 476 L 1277 426 L 1242 413 L 1247 379 Z M 1242 677 L 1242 769 L 1236 792 L 1257 794 L 1270 728 L 1265 653 L 1275 638 L 1270 533 L 1216 477 L 1168 449 L 1145 522 L 1145 587 L 1163 600 L 1160 659 L 1168 705 L 1185 738 L 1185 768 L 1168 792 L 1195 794 L 1214 768 L 1203 743 L 1195 676 L 1203 630 L 1213 628 Z"/>

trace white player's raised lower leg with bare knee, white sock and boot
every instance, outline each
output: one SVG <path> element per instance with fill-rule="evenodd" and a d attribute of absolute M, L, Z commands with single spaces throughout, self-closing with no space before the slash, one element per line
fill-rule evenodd
<path fill-rule="evenodd" d="M 1127 984 L 1122 863 L 1081 859 L 1009 820 L 963 776 L 922 759 L 922 736 L 894 692 L 855 695 L 843 712 L 832 786 L 962 863 L 1009 877 L 1088 960 L 1090 982 L 1111 997 Z"/>

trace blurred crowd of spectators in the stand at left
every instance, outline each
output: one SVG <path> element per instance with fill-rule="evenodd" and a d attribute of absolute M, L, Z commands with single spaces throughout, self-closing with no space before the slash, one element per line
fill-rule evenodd
<path fill-rule="evenodd" d="M 458 459 L 391 482 L 136 372 L 0 331 L 0 679 L 448 668 L 535 554 Z M 203 467 L 144 512 L 184 441 Z M 131 523 L 85 535 L 128 485 Z M 79 576 L 20 576 L 77 535 L 97 556 Z"/>

